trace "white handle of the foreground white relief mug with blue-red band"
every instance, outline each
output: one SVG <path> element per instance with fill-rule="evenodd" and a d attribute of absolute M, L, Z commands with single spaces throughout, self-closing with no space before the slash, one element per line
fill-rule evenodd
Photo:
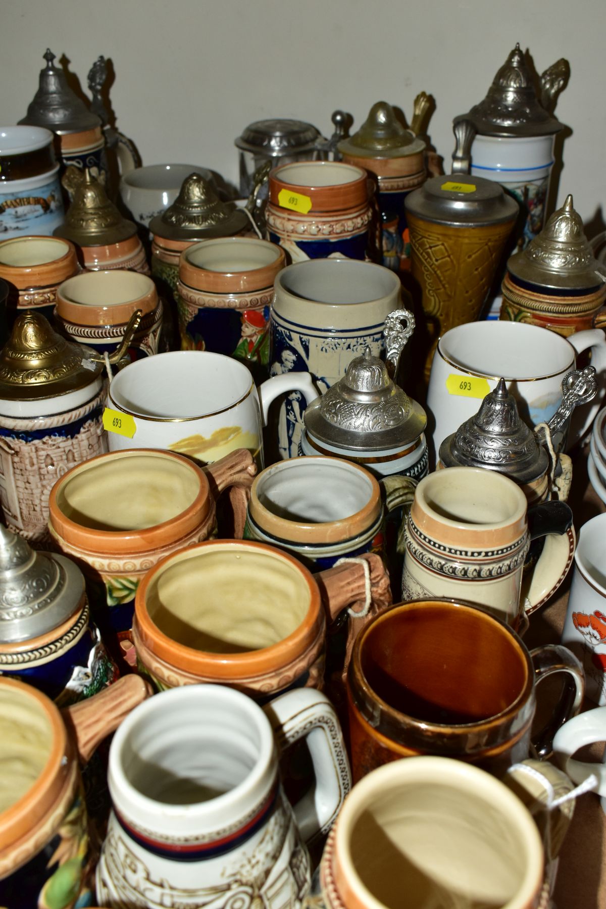
<path fill-rule="evenodd" d="M 263 707 L 281 751 L 306 738 L 315 784 L 293 805 L 305 843 L 328 833 L 352 786 L 341 725 L 333 704 L 313 688 L 299 688 Z"/>

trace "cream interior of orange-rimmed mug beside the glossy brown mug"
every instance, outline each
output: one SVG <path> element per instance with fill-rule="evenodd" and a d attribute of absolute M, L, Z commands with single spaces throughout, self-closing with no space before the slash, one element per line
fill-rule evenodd
<path fill-rule="evenodd" d="M 147 588 L 156 627 L 177 644 L 243 654 L 279 644 L 312 602 L 305 575 L 277 551 L 209 544 L 177 554 Z"/>

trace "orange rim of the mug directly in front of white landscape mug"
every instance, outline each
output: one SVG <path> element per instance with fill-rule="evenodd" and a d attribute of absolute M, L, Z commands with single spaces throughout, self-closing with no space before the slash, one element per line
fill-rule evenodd
<path fill-rule="evenodd" d="M 84 524 L 78 524 L 70 517 L 67 517 L 59 503 L 65 486 L 75 476 L 94 472 L 97 467 L 104 464 L 118 464 L 125 458 L 134 457 L 154 458 L 159 461 L 170 459 L 180 464 L 184 471 L 192 474 L 198 483 L 198 491 L 192 503 L 183 512 L 175 514 L 174 517 L 162 522 L 162 524 L 155 524 L 152 527 L 145 527 L 139 530 L 96 530 L 92 527 L 86 527 Z M 78 549 L 84 549 L 88 553 L 124 555 L 151 552 L 192 533 L 196 527 L 204 522 L 204 518 L 214 506 L 214 500 L 204 471 L 189 458 L 184 457 L 183 454 L 175 454 L 174 452 L 156 448 L 126 448 L 122 451 L 109 452 L 108 454 L 97 454 L 96 457 L 84 461 L 83 464 L 76 464 L 75 467 L 72 467 L 71 470 L 68 470 L 66 474 L 56 481 L 51 489 L 48 504 L 50 512 L 49 526 L 57 536 L 65 540 L 65 543 Z"/>

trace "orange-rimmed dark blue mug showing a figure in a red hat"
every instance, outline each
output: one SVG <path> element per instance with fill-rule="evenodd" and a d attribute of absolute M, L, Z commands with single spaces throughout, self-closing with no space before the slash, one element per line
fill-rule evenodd
<path fill-rule="evenodd" d="M 204 240 L 181 254 L 177 284 L 183 350 L 242 360 L 257 380 L 267 376 L 269 308 L 283 249 L 253 237 Z"/>

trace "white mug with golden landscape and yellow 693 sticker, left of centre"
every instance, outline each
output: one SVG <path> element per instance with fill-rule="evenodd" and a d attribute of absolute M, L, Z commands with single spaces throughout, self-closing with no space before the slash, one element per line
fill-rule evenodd
<path fill-rule="evenodd" d="M 134 435 L 110 432 L 109 450 L 166 448 L 208 464 L 247 448 L 263 467 L 269 405 L 293 390 L 308 404 L 318 396 L 309 373 L 276 375 L 257 389 L 245 365 L 208 351 L 137 360 L 114 375 L 107 400 L 108 407 L 132 417 Z"/>

